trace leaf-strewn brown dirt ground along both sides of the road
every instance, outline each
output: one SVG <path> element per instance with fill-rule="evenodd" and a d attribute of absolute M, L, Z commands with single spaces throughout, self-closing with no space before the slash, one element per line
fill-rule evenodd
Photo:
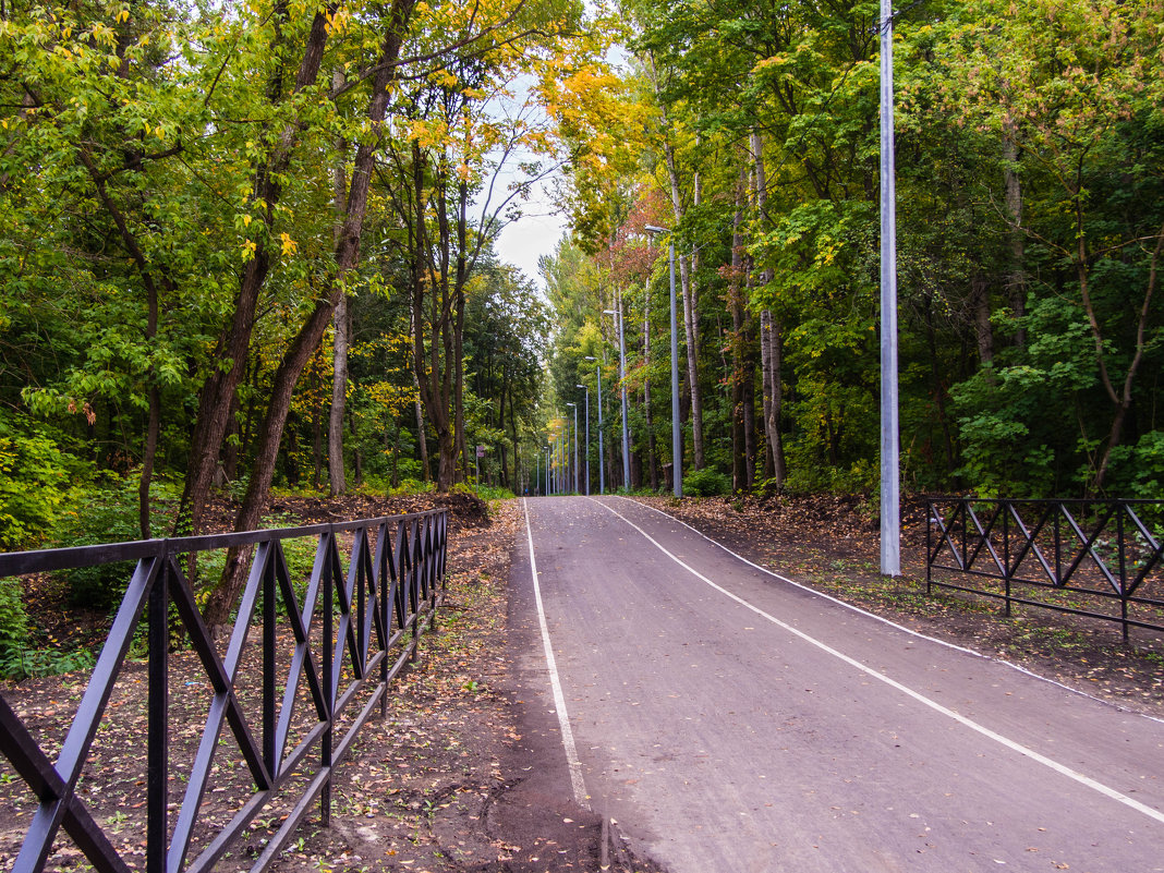
<path fill-rule="evenodd" d="M 648 861 L 630 857 L 617 837 L 605 839 L 602 822 L 584 810 L 563 812 L 523 801 L 528 767 L 523 757 L 519 701 L 508 684 L 506 647 L 506 582 L 521 533 L 520 502 L 495 503 L 487 513 L 475 498 L 454 495 L 453 499 L 447 596 L 439 627 L 423 638 L 419 662 L 392 686 L 386 718 L 369 721 L 338 771 L 331 826 L 322 828 L 313 814 L 271 868 L 281 873 L 653 871 Z M 885 580 L 878 574 L 876 521 L 854 498 L 687 498 L 679 505 L 667 498 L 641 499 L 796 582 L 920 632 L 1020 663 L 1116 705 L 1164 717 L 1159 640 L 1136 634 L 1124 646 L 1115 626 L 1035 610 L 1003 618 L 993 603 L 927 596 L 924 510 L 916 505 L 907 504 L 903 512 L 906 575 Z M 430 505 L 427 497 L 391 502 L 357 497 L 340 504 L 298 498 L 276 501 L 271 512 L 314 523 Z M 228 518 L 229 508 L 220 509 L 223 519 Z M 54 606 L 59 592 L 42 585 L 33 595 L 42 639 L 64 638 L 69 629 L 59 619 L 59 604 Z M 101 627 L 100 617 L 83 624 L 90 636 Z M 189 653 L 175 653 L 172 661 L 176 687 L 192 689 L 191 701 L 197 704 L 196 693 L 201 688 L 197 665 Z M 183 669 L 193 676 L 185 683 Z M 111 702 L 111 712 L 128 716 L 127 731 L 140 730 L 143 676 L 143 666 L 130 665 Z M 78 674 L 54 676 L 8 683 L 2 693 L 40 732 L 42 743 L 52 747 L 63 738 L 84 681 Z M 175 724 L 175 732 L 196 737 L 201 730 L 199 719 L 205 717 L 197 716 L 199 711 L 205 714 L 205 707 L 191 705 L 192 725 Z M 140 751 L 129 734 L 102 729 L 90 761 L 81 786 L 85 802 L 140 867 L 142 831 L 135 826 L 144 797 Z M 223 796 L 230 795 L 232 785 L 237 790 L 247 781 L 232 782 L 229 775 L 222 774 L 214 789 Z M 0 870 L 12 868 L 34 809 L 31 795 L 7 764 L 0 765 Z M 218 868 L 249 868 L 283 814 L 285 805 L 278 804 L 261 814 Z M 207 818 L 212 830 L 217 819 Z M 48 867 L 81 871 L 87 865 L 62 835 Z"/>

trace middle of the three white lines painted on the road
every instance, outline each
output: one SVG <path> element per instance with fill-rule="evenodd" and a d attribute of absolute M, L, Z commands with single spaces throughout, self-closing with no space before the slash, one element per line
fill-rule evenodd
<path fill-rule="evenodd" d="M 1129 797 L 1126 794 L 1121 794 L 1120 792 L 1115 790 L 1114 788 L 1109 788 L 1108 786 L 1103 785 L 1102 782 L 1096 782 L 1091 776 L 1086 776 L 1083 773 L 1079 773 L 1078 771 L 1074 771 L 1074 769 L 1072 769 L 1071 767 L 1067 767 L 1064 764 L 1059 764 L 1058 761 L 1056 761 L 1056 760 L 1053 760 L 1051 758 L 1048 758 L 1044 754 L 1039 754 L 1034 748 L 1029 748 L 1029 747 L 1022 745 L 1021 743 L 1016 743 L 1015 740 L 1013 740 L 1013 739 L 1010 739 L 1008 737 L 1003 737 L 1001 733 L 992 731 L 989 728 L 986 728 L 985 725 L 981 725 L 981 724 L 979 724 L 978 722 L 975 722 L 975 721 L 973 721 L 971 718 L 966 718 L 966 716 L 964 716 L 964 715 L 961 715 L 959 712 L 954 712 L 952 709 L 949 709 L 947 707 L 943 707 L 937 701 L 932 701 L 929 697 L 927 697 L 925 695 L 920 694 L 918 691 L 915 691 L 913 688 L 909 688 L 908 686 L 903 686 L 901 682 L 897 682 L 894 679 L 889 679 L 889 676 L 886 676 L 883 673 L 878 673 L 875 669 L 873 669 L 872 667 L 870 667 L 870 666 L 867 666 L 865 663 L 861 663 L 856 658 L 850 658 L 844 652 L 838 652 L 836 648 L 833 648 L 832 646 L 828 645 L 826 643 L 822 643 L 821 640 L 816 639 L 815 637 L 810 637 L 807 633 L 804 633 L 803 631 L 797 630 L 796 627 L 793 627 L 790 624 L 787 624 L 786 622 L 781 622 L 775 616 L 772 616 L 772 615 L 765 612 L 759 606 L 752 605 L 751 603 L 748 603 L 747 601 L 745 601 L 743 597 L 738 596 L 736 594 L 732 594 L 731 591 L 729 591 L 726 588 L 723 588 L 722 585 L 716 584 L 710 579 L 708 579 L 702 573 L 700 573 L 697 569 L 695 569 L 694 567 L 684 563 L 681 558 L 679 558 L 677 555 L 675 555 L 672 552 L 667 551 L 666 546 L 663 546 L 661 542 L 659 542 L 659 540 L 656 540 L 650 533 L 647 533 L 646 531 L 644 531 L 641 527 L 639 527 L 637 524 L 634 524 L 631 519 L 629 519 L 626 516 L 624 516 L 618 510 L 616 510 L 616 509 L 613 509 L 611 506 L 608 506 L 606 504 L 601 503 L 598 501 L 595 501 L 595 503 L 597 503 L 599 506 L 609 510 L 613 514 L 618 516 L 626 524 L 629 524 L 636 531 L 638 531 L 639 533 L 641 533 L 647 540 L 650 540 L 660 552 L 662 552 L 665 555 L 667 555 L 670 560 L 673 560 L 680 567 L 682 567 L 683 569 L 686 569 L 693 576 L 695 576 L 696 579 L 705 582 L 707 584 L 709 584 L 711 588 L 716 589 L 721 594 L 726 595 L 728 597 L 730 597 L 731 599 L 736 601 L 736 603 L 740 604 L 741 606 L 745 606 L 746 609 L 750 609 L 752 612 L 754 612 L 755 615 L 760 616 L 761 618 L 766 618 L 767 620 L 772 622 L 772 624 L 776 625 L 778 627 L 781 627 L 781 629 L 788 631 L 793 636 L 799 637 L 800 639 L 804 640 L 805 643 L 816 646 L 817 648 L 819 648 L 823 652 L 828 652 L 833 658 L 837 658 L 837 659 L 844 661 L 845 663 L 847 663 L 851 667 L 854 667 L 856 669 L 860 670 L 865 675 L 871 676 L 871 677 L 878 680 L 879 682 L 883 682 L 885 684 L 889 686 L 890 688 L 895 688 L 896 690 L 901 691 L 902 694 L 904 694 L 904 695 L 907 695 L 909 697 L 913 697 L 915 701 L 917 701 L 918 703 L 921 703 L 921 704 L 923 704 L 925 707 L 929 707 L 935 712 L 941 712 L 942 715 L 946 716 L 947 718 L 952 718 L 954 722 L 958 722 L 959 724 L 964 725 L 965 728 L 970 728 L 972 731 L 975 731 L 975 732 L 982 734 L 987 739 L 993 739 L 995 743 L 999 743 L 1000 745 L 1003 745 L 1007 748 L 1009 748 L 1009 750 L 1012 750 L 1014 752 L 1017 752 L 1021 755 L 1030 758 L 1032 761 L 1037 761 L 1038 764 L 1042 764 L 1044 767 L 1049 767 L 1050 769 L 1053 769 L 1056 773 L 1059 773 L 1059 774 L 1066 776 L 1067 779 L 1074 780 L 1079 785 L 1083 785 L 1083 786 L 1085 786 L 1087 788 L 1091 788 L 1094 792 L 1098 792 L 1099 794 L 1102 794 L 1105 797 L 1109 797 L 1109 799 L 1112 799 L 1114 801 L 1119 801 L 1120 803 L 1123 803 L 1124 805 L 1130 807 L 1131 809 L 1136 810 L 1137 812 L 1143 812 L 1149 818 L 1154 818 L 1157 822 L 1164 824 L 1164 812 L 1161 812 L 1157 809 L 1152 809 L 1151 807 L 1147 805 L 1145 803 L 1141 803 L 1140 801 L 1137 801 L 1137 800 L 1135 800 L 1133 797 Z M 532 547 L 532 540 L 531 540 L 531 547 Z"/>

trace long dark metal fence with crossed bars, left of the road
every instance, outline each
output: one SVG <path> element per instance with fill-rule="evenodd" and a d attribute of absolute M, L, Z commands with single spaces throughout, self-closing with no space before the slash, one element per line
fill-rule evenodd
<path fill-rule="evenodd" d="M 0 751 L 36 796 L 13 870 L 44 870 L 64 829 L 100 873 L 141 868 L 136 865 L 142 860 L 150 873 L 207 871 L 237 845 L 269 804 L 293 803 L 285 816 L 274 817 L 282 822 L 256 850 L 251 868 L 260 871 L 288 844 L 317 799 L 327 825 L 335 768 L 376 708 L 385 712 L 389 682 L 416 655 L 425 626 L 435 622 L 443 597 L 447 534 L 447 510 L 433 510 L 346 524 L 0 555 L 0 576 L 136 561 L 55 762 L 50 760 L 55 743 L 38 739 L 0 696 Z M 310 576 L 292 579 L 284 545 L 304 542 L 303 538 L 314 538 L 314 560 Z M 342 548 L 348 558 L 345 567 L 340 542 L 349 539 L 350 546 Z M 253 558 L 237 618 L 220 652 L 183 568 L 191 555 L 232 547 L 253 549 Z M 177 721 L 171 724 L 171 696 L 177 691 L 170 641 L 179 625 L 197 655 L 200 679 L 184 684 L 208 686 L 212 693 L 200 732 L 198 723 L 193 730 Z M 248 632 L 255 627 L 261 627 L 261 639 L 248 646 Z M 109 716 L 127 654 L 142 646 L 142 630 L 144 822 L 134 850 L 127 851 L 114 846 L 111 835 L 118 829 L 109 826 L 108 816 L 98 821 L 78 783 L 91 786 L 99 779 L 86 764 Z M 248 666 L 255 660 L 261 661 L 257 670 Z M 346 712 L 357 698 L 359 712 L 356 707 Z M 171 760 L 172 748 L 183 746 L 179 732 L 190 737 L 189 767 Z M 234 760 L 226 760 L 232 748 Z M 237 766 L 239 758 L 243 767 Z M 234 794 L 211 788 L 226 772 L 236 773 Z M 173 789 L 180 781 L 185 788 L 179 800 Z M 90 788 L 87 796 L 94 792 Z M 221 805 L 223 796 L 236 801 L 226 812 L 229 821 L 200 823 L 204 809 Z"/>

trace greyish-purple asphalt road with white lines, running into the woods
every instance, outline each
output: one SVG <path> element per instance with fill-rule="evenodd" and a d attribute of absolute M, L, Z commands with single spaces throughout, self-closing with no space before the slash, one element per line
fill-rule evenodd
<path fill-rule="evenodd" d="M 1164 722 L 633 501 L 524 503 L 510 620 L 531 769 L 638 854 L 672 873 L 1164 871 Z"/>

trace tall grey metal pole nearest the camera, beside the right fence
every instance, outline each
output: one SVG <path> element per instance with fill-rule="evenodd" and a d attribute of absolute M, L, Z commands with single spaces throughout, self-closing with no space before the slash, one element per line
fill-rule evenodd
<path fill-rule="evenodd" d="M 881 0 L 881 573 L 901 575 L 897 435 L 897 217 L 893 155 L 893 5 Z"/>

